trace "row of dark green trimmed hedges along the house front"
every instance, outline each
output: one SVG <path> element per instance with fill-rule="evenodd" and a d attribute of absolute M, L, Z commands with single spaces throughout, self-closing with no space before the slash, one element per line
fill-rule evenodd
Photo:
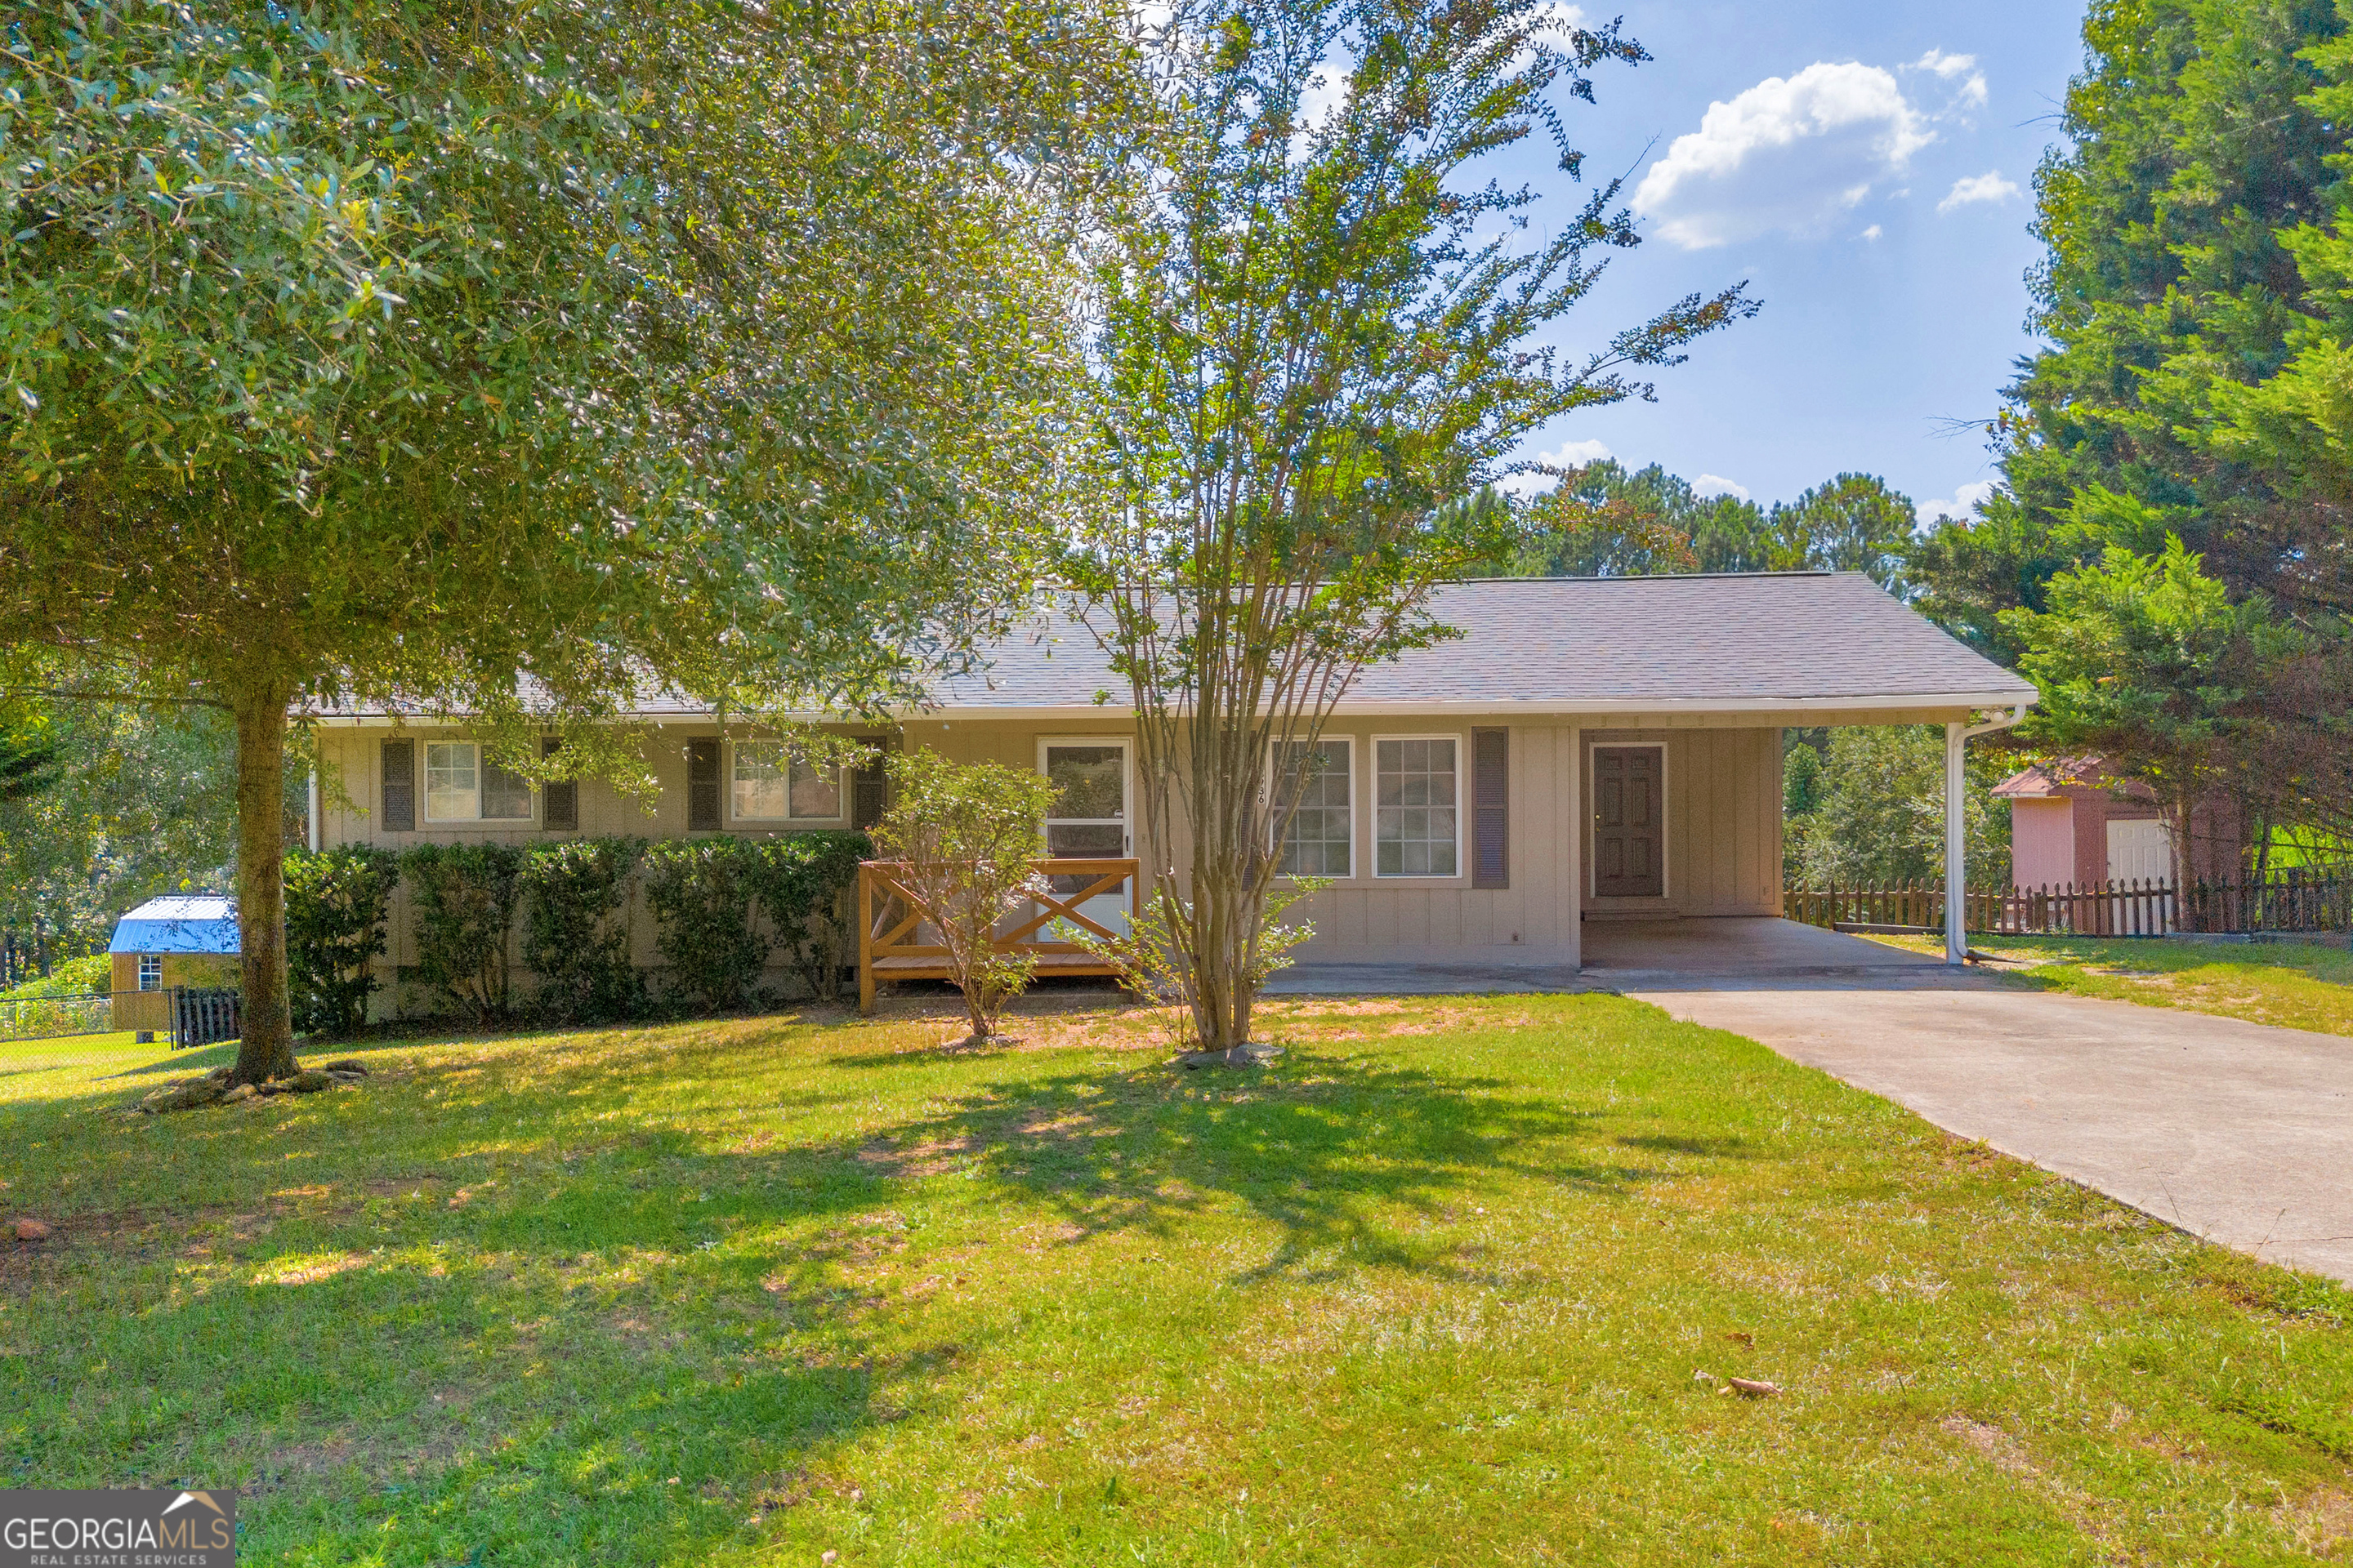
<path fill-rule="evenodd" d="M 812 997 L 840 994 L 847 891 L 864 832 L 776 839 L 558 839 L 419 844 L 287 856 L 287 957 L 296 1027 L 348 1034 L 376 990 L 393 889 L 407 882 L 414 976 L 442 1013 L 616 1023 L 647 1013 L 739 1011 L 781 957 Z M 631 961 L 631 907 L 654 914 L 659 973 Z M 518 926 L 520 919 L 520 926 Z M 518 997 L 511 966 L 536 987 Z M 659 983 L 659 997 L 654 985 Z"/>

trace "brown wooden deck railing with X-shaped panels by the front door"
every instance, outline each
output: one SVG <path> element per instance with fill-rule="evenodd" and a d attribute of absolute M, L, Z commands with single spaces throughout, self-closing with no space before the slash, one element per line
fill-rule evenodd
<path fill-rule="evenodd" d="M 1028 952 L 1038 973 L 1108 976 L 1113 966 L 1071 940 L 1073 929 L 1096 938 L 1125 936 L 1125 919 L 1136 910 L 1136 875 L 1141 860 L 1042 858 L 1045 877 L 1031 896 L 1031 912 L 1002 926 L 998 952 Z M 859 1011 L 875 1009 L 875 985 L 882 980 L 951 980 L 948 950 L 939 940 L 932 912 L 906 886 L 901 860 L 864 860 L 859 865 Z M 1087 912 L 1099 898 L 1120 900 L 1120 929 Z"/>

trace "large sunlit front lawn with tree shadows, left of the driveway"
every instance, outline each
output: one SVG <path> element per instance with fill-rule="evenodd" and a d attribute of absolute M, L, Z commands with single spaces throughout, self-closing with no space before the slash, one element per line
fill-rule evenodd
<path fill-rule="evenodd" d="M 2353 1552 L 2346 1291 L 1751 1041 L 1322 1001 L 1184 1077 L 1101 1001 L 1024 1027 L 19 1098 L 0 1204 L 59 1237 L 0 1253 L 0 1483 L 242 1486 L 242 1561 L 322 1566 Z"/>

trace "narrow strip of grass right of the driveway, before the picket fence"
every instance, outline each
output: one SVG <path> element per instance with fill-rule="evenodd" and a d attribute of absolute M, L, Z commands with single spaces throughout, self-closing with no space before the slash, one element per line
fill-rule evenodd
<path fill-rule="evenodd" d="M 1944 952 L 1941 938 L 1875 940 Z M 2042 990 L 2353 1034 L 2353 952 L 2344 947 L 2078 936 L 1972 936 L 1969 945 L 2019 961 L 2009 973 Z"/>

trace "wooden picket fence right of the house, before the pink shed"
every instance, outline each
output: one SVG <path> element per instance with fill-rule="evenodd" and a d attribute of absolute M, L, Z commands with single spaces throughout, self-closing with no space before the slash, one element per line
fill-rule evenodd
<path fill-rule="evenodd" d="M 1887 889 L 1784 889 L 1781 912 L 1809 926 L 1944 929 L 1944 884 Z M 2064 882 L 2042 889 L 1967 893 L 1969 931 L 2017 936 L 2162 936 L 2167 931 L 2353 931 L 2353 877 L 2245 882 Z"/>

